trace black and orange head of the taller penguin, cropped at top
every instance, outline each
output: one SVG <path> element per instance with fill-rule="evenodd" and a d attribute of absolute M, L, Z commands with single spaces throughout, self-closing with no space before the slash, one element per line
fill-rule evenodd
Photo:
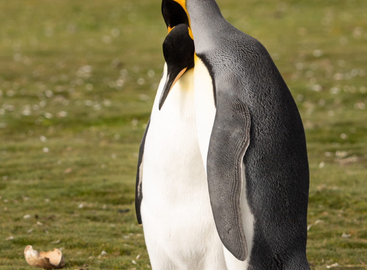
<path fill-rule="evenodd" d="M 185 0 L 162 0 L 162 15 L 168 32 L 179 24 L 189 24 Z"/>

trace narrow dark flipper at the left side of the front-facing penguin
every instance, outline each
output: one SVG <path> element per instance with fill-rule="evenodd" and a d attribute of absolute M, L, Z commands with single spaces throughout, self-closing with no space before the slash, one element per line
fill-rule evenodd
<path fill-rule="evenodd" d="M 142 224 L 142 217 L 140 214 L 140 204 L 143 200 L 143 192 L 142 192 L 142 179 L 143 179 L 143 171 L 141 168 L 143 166 L 143 154 L 144 154 L 144 145 L 145 145 L 145 138 L 148 133 L 149 124 L 151 123 L 151 118 L 149 117 L 147 127 L 145 128 L 143 138 L 140 142 L 139 148 L 139 158 L 138 158 L 138 168 L 136 170 L 136 183 L 135 183 L 135 211 L 136 211 L 136 218 L 139 224 Z"/>

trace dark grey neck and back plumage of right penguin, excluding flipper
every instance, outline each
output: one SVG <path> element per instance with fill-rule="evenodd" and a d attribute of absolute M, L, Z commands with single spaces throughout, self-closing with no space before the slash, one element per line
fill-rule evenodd
<path fill-rule="evenodd" d="M 214 0 L 186 0 L 186 7 L 196 53 L 214 80 L 214 96 L 225 92 L 244 102 L 250 114 L 244 156 L 255 219 L 249 269 L 308 269 L 309 173 L 296 103 L 264 46 L 226 22 Z"/>

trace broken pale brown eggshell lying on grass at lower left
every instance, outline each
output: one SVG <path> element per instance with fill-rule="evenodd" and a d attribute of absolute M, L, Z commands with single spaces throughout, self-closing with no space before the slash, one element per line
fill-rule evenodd
<path fill-rule="evenodd" d="M 65 266 L 61 250 L 58 248 L 54 248 L 53 251 L 41 251 L 38 253 L 31 245 L 28 245 L 24 249 L 24 257 L 30 266 L 43 269 L 60 269 Z"/>

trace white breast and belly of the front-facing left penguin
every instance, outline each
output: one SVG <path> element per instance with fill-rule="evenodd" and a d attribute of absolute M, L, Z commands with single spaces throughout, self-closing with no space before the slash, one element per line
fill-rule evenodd
<path fill-rule="evenodd" d="M 144 158 L 141 215 L 156 269 L 224 268 L 223 251 L 210 206 L 207 177 L 194 114 L 193 70 L 170 91 L 161 110 L 153 105 Z M 208 264 L 208 262 L 210 262 Z"/>

